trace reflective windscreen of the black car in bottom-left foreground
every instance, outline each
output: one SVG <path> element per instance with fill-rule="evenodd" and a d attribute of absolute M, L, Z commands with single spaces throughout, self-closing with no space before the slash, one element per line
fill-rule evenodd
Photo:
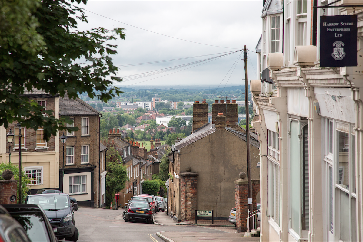
<path fill-rule="evenodd" d="M 50 241 L 43 214 L 39 211 L 10 212 L 26 231 L 31 241 Z"/>

